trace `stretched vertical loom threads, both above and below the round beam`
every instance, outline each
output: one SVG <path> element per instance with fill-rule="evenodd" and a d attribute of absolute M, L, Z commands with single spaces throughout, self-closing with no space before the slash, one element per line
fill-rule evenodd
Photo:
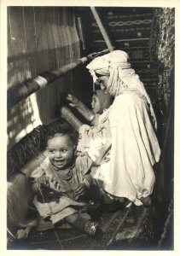
<path fill-rule="evenodd" d="M 8 8 L 9 88 L 78 58 L 73 7 Z M 59 93 L 81 91 L 81 83 L 76 86 L 74 81 L 72 74 L 68 74 L 8 109 L 9 148 L 34 127 L 55 119 Z"/>

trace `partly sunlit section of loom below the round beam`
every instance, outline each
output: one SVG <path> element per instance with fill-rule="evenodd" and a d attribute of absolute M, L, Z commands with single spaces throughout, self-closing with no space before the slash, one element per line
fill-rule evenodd
<path fill-rule="evenodd" d="M 62 104 L 62 93 L 71 93 L 90 107 L 92 81 L 84 66 L 75 68 L 8 109 L 8 148 L 38 125 L 49 125 L 60 117 L 55 108 Z"/>

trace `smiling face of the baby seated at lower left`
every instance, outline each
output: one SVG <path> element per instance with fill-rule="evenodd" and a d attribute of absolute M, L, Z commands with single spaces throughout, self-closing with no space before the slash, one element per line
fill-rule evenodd
<path fill-rule="evenodd" d="M 72 163 L 74 148 L 75 146 L 67 134 L 56 134 L 47 143 L 49 161 L 59 170 L 66 169 Z"/>

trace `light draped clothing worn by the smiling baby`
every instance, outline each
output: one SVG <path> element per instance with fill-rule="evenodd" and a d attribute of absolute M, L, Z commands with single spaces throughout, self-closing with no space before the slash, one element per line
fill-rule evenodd
<path fill-rule="evenodd" d="M 65 176 L 63 171 L 55 170 L 55 166 L 52 166 L 49 158 L 46 158 L 41 166 L 32 172 L 31 177 L 35 180 L 38 177 L 47 176 L 49 180 L 55 178 L 60 184 L 60 189 L 56 189 L 55 184 L 49 182 L 49 188 L 35 195 L 33 203 L 40 216 L 50 217 L 52 223 L 55 224 L 78 212 L 78 209 L 85 205 L 83 199 L 74 199 L 73 190 L 84 181 L 85 175 L 90 171 L 91 163 L 88 156 L 78 156 Z"/>

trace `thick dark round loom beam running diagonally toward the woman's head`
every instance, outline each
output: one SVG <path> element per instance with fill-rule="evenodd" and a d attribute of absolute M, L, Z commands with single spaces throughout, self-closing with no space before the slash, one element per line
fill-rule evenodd
<path fill-rule="evenodd" d="M 26 99 L 28 96 L 32 95 L 32 93 L 44 88 L 47 84 L 52 83 L 56 79 L 59 79 L 61 76 L 73 70 L 75 67 L 84 64 L 88 60 L 93 60 L 93 58 L 95 58 L 97 55 L 105 54 L 108 51 L 108 49 L 104 49 L 101 52 L 87 55 L 86 57 L 78 59 L 78 61 L 68 64 L 64 67 L 58 68 L 53 71 L 44 72 L 38 75 L 38 77 L 36 77 L 35 79 L 27 79 L 20 84 L 12 86 L 8 90 L 8 108 L 13 107 L 21 100 Z"/>

